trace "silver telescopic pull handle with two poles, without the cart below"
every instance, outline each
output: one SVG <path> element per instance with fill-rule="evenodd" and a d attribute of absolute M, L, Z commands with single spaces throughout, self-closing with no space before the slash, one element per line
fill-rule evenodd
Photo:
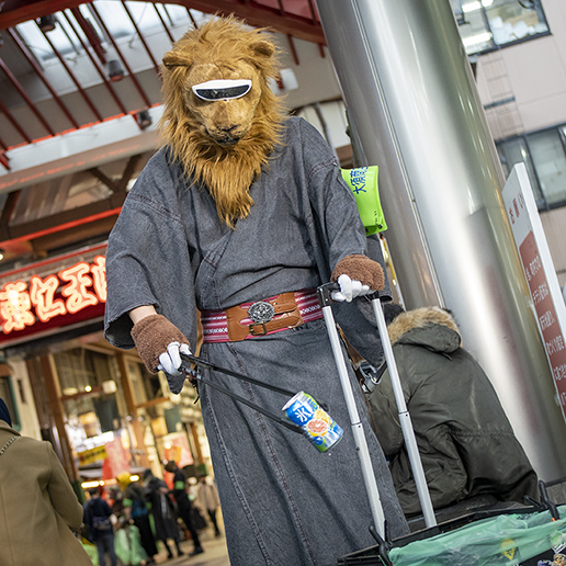
<path fill-rule="evenodd" d="M 360 463 L 362 466 L 362 475 L 365 483 L 365 488 L 367 491 L 367 497 L 370 500 L 370 507 L 372 510 L 372 518 L 375 523 L 375 529 L 377 534 L 385 541 L 385 517 L 383 513 L 383 507 L 380 498 L 380 493 L 377 490 L 377 484 L 375 480 L 375 474 L 373 471 L 372 462 L 370 459 L 370 452 L 367 449 L 367 442 L 365 439 L 365 434 L 363 431 L 363 426 L 360 421 L 360 416 L 358 412 L 358 408 L 355 406 L 354 395 L 352 390 L 352 386 L 350 380 L 348 377 L 348 370 L 346 366 L 344 356 L 342 354 L 342 349 L 340 344 L 340 338 L 338 335 L 338 330 L 335 322 L 335 317 L 331 308 L 331 292 L 338 291 L 339 286 L 336 283 L 327 283 L 325 285 L 320 285 L 317 290 L 318 301 L 322 308 L 322 314 L 326 321 L 326 327 L 328 330 L 328 337 L 330 339 L 330 344 L 332 348 L 332 352 L 335 355 L 336 364 L 338 367 L 338 374 L 340 376 L 340 382 L 342 385 L 348 412 L 350 416 L 350 423 L 352 427 L 352 432 L 355 441 L 355 446 L 358 449 L 358 455 L 360 457 Z M 378 293 L 373 295 L 372 305 L 375 314 L 375 319 L 377 322 L 377 330 L 380 332 L 380 337 L 383 344 L 383 350 L 385 354 L 385 360 L 387 362 L 387 367 L 389 370 L 389 375 L 392 378 L 392 383 L 394 386 L 395 400 L 397 403 L 397 410 L 399 414 L 399 420 L 401 423 L 403 437 L 405 443 L 407 445 L 407 452 L 409 455 L 409 462 L 412 469 L 412 475 L 415 477 L 417 493 L 419 495 L 419 501 L 422 508 L 424 522 L 427 527 L 432 527 L 437 524 L 437 520 L 434 517 L 434 511 L 432 508 L 432 502 L 430 500 L 430 494 L 427 486 L 427 482 L 424 478 L 424 471 L 422 468 L 422 462 L 420 460 L 417 441 L 415 439 L 415 431 L 412 429 L 412 423 L 410 420 L 410 416 L 407 411 L 407 406 L 405 403 L 405 397 L 403 395 L 403 388 L 400 385 L 400 378 L 397 371 L 397 364 L 395 363 L 395 358 L 393 355 L 393 349 L 389 341 L 389 336 L 387 333 L 387 326 L 385 324 L 385 317 L 383 315 L 383 309 L 381 305 L 381 299 Z"/>

